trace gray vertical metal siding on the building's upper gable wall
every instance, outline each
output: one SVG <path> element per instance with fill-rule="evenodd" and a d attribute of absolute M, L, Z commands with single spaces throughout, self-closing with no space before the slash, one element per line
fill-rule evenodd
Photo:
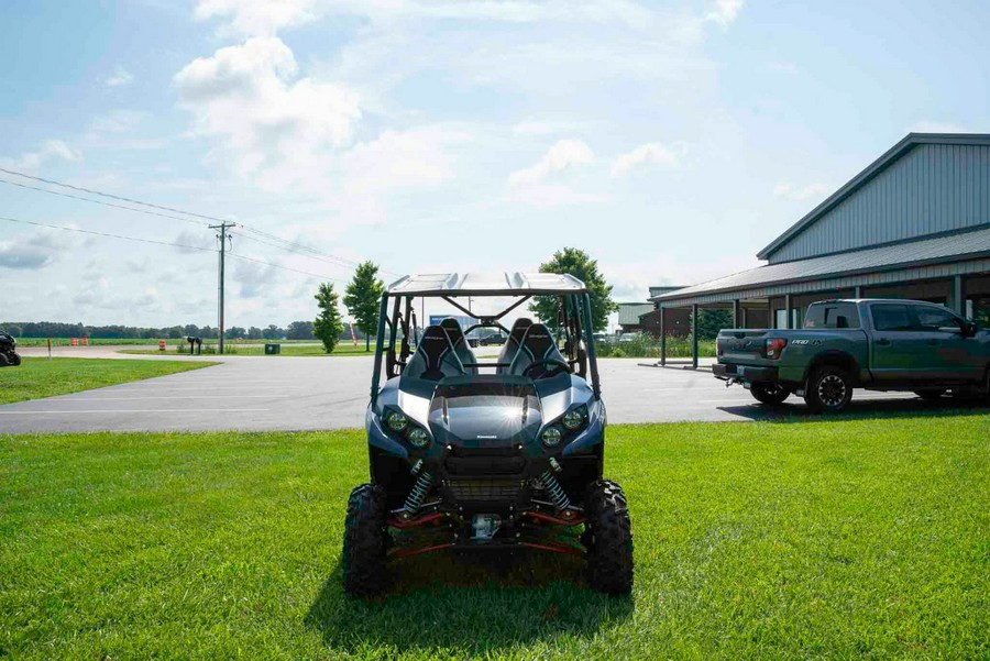
<path fill-rule="evenodd" d="M 990 222 L 990 146 L 920 144 L 769 255 L 771 264 Z"/>

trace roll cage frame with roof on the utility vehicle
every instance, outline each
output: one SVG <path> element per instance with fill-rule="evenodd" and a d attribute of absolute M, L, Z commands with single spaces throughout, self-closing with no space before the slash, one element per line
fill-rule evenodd
<path fill-rule="evenodd" d="M 389 285 L 382 295 L 378 313 L 378 333 L 375 343 L 375 366 L 372 375 L 371 399 L 376 404 L 384 363 L 386 378 L 402 374 L 413 355 L 415 342 L 425 324 L 417 319 L 417 298 L 440 298 L 477 323 L 463 329 L 464 335 L 479 328 L 496 328 L 506 335 L 509 329 L 501 320 L 536 296 L 557 298 L 557 340 L 563 340 L 562 353 L 572 373 L 583 378 L 591 376 L 595 398 L 601 398 L 598 367 L 595 356 L 594 332 L 591 322 L 591 300 L 584 284 L 570 275 L 504 274 L 482 276 L 477 274 L 447 274 L 406 276 Z M 515 298 L 512 305 L 495 315 L 480 315 L 471 304 L 462 305 L 461 298 Z M 400 340 L 397 338 L 402 335 Z M 508 367 L 508 363 L 465 363 L 465 368 Z"/>

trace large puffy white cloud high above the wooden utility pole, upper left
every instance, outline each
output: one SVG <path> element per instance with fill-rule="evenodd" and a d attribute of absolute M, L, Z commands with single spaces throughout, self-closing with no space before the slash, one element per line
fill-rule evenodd
<path fill-rule="evenodd" d="M 254 37 L 197 58 L 174 81 L 195 134 L 216 139 L 213 156 L 249 176 L 280 163 L 302 169 L 351 140 L 361 118 L 356 95 L 296 74 L 279 38 Z"/>

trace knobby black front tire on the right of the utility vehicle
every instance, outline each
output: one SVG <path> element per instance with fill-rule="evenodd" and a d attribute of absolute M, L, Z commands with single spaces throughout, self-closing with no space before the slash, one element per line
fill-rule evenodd
<path fill-rule="evenodd" d="M 587 527 L 587 580 L 608 595 L 632 590 L 632 524 L 626 495 L 615 482 L 600 480 L 584 500 Z"/>

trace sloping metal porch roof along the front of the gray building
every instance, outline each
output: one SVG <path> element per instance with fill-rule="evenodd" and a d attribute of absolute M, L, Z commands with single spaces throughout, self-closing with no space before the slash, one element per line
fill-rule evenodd
<path fill-rule="evenodd" d="M 977 258 L 990 255 L 990 224 L 976 230 L 953 232 L 917 241 L 899 242 L 866 250 L 838 253 L 810 260 L 768 264 L 718 279 L 685 287 L 653 297 L 650 300 L 669 302 L 716 291 L 730 291 L 760 285 L 814 280 L 836 275 L 897 269 L 938 262 L 956 261 L 960 256 Z"/>

